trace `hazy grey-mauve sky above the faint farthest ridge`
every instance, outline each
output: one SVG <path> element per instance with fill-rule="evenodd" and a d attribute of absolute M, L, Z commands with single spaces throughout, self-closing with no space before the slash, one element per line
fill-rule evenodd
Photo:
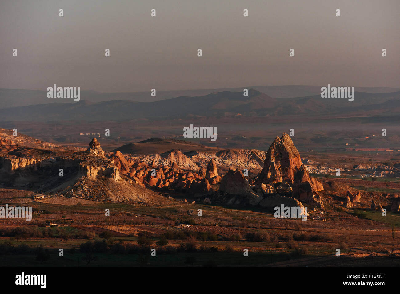
<path fill-rule="evenodd" d="M 399 20 L 399 0 L 1 0 L 0 88 L 400 87 Z"/>

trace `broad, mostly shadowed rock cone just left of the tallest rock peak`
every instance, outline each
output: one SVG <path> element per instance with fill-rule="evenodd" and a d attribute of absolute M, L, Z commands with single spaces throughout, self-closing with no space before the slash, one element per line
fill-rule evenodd
<path fill-rule="evenodd" d="M 242 171 L 235 170 L 233 167 L 230 167 L 222 178 L 219 191 L 234 195 L 246 195 L 253 192 Z"/>

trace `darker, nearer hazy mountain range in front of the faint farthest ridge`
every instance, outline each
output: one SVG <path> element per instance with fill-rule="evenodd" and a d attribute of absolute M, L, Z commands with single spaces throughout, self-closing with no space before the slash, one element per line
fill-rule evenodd
<path fill-rule="evenodd" d="M 81 95 L 82 97 L 82 95 Z M 56 98 L 57 99 L 57 98 Z M 58 98 L 68 100 L 68 98 Z M 354 101 L 318 95 L 274 99 L 255 89 L 214 92 L 200 97 L 176 97 L 154 102 L 111 100 L 46 103 L 0 109 L 0 121 L 128 121 L 133 119 L 223 118 L 276 115 L 398 115 L 400 91 L 356 92 Z"/>

